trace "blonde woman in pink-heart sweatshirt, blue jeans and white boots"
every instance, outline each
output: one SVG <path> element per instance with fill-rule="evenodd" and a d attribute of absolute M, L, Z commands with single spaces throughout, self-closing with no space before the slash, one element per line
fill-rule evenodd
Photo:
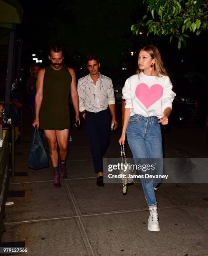
<path fill-rule="evenodd" d="M 134 161 L 161 159 L 159 168 L 162 168 L 160 124 L 168 123 L 176 94 L 172 91 L 170 78 L 155 46 L 145 46 L 140 50 L 137 74 L 126 80 L 122 93 L 126 105 L 120 145 L 124 145 L 127 133 Z M 158 182 L 142 179 L 141 182 L 150 209 L 148 230 L 160 231 L 155 197 Z"/>

